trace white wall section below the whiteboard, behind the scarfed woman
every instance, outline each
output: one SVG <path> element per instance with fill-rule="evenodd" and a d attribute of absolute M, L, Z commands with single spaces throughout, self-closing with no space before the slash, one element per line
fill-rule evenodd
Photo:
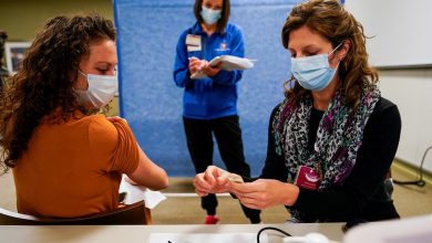
<path fill-rule="evenodd" d="M 397 158 L 420 166 L 432 146 L 432 68 L 380 71 L 382 95 L 398 105 L 402 118 Z M 424 160 L 432 171 L 432 151 Z"/>

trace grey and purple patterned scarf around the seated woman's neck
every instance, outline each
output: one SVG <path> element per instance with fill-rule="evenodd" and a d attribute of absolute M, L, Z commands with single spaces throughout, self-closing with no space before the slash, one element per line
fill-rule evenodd
<path fill-rule="evenodd" d="M 308 166 L 321 177 L 319 191 L 342 184 L 356 163 L 364 127 L 380 96 L 378 87 L 368 84 L 358 108 L 352 110 L 342 104 L 343 96 L 338 92 L 319 123 L 311 152 L 308 149 L 308 124 L 312 101 L 304 98 L 299 106 L 295 106 L 286 99 L 276 113 L 272 128 L 276 152 L 284 155 L 288 169 L 288 182 L 294 182 L 299 166 Z M 306 216 L 306 212 L 291 209 L 290 213 L 300 221 L 317 220 Z"/>

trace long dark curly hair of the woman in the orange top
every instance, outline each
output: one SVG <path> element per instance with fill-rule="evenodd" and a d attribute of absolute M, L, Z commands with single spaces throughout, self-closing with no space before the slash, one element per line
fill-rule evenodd
<path fill-rule="evenodd" d="M 99 14 L 48 20 L 0 101 L 3 172 L 16 166 L 42 118 L 65 122 L 82 109 L 72 89 L 79 64 L 89 57 L 91 45 L 104 40 L 115 41 L 115 30 Z"/>

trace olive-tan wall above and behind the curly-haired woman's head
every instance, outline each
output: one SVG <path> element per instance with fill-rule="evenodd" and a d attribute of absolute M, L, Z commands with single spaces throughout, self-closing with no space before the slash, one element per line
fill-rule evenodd
<path fill-rule="evenodd" d="M 0 29 L 8 41 L 31 41 L 48 19 L 74 13 L 100 13 L 113 20 L 111 0 L 0 0 Z M 109 115 L 119 114 L 117 98 Z"/>

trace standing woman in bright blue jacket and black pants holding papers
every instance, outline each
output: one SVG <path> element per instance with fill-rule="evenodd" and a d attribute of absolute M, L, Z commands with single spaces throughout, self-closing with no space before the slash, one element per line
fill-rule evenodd
<path fill-rule="evenodd" d="M 175 84 L 185 91 L 183 122 L 196 172 L 205 171 L 213 163 L 215 135 L 228 171 L 249 176 L 237 115 L 237 82 L 241 80 L 243 72 L 222 70 L 220 64 L 208 65 L 219 55 L 245 55 L 241 29 L 228 22 L 229 10 L 229 0 L 195 1 L 197 22 L 179 35 L 173 75 Z M 205 77 L 191 77 L 198 72 Z M 219 221 L 215 194 L 202 198 L 202 207 L 207 211 L 205 223 Z M 260 222 L 259 211 L 241 208 L 251 223 Z"/>

